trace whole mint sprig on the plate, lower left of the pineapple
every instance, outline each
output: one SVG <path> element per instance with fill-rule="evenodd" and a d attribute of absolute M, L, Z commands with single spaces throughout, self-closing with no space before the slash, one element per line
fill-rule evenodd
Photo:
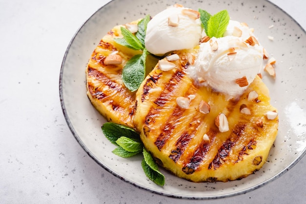
<path fill-rule="evenodd" d="M 129 158 L 142 152 L 141 166 L 146 176 L 158 185 L 164 185 L 165 177 L 159 172 L 158 166 L 151 154 L 143 147 L 140 136 L 134 129 L 124 125 L 107 122 L 102 126 L 102 131 L 109 141 L 118 147 L 112 151 L 113 154 Z"/>

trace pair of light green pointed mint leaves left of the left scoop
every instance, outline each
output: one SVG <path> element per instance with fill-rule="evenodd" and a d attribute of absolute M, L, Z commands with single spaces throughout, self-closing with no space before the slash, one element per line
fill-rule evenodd
<path fill-rule="evenodd" d="M 124 45 L 127 46 L 129 48 L 135 49 L 135 50 L 139 50 L 139 49 L 144 49 L 144 47 L 142 46 L 141 42 L 138 40 L 138 38 L 136 38 L 136 36 L 134 36 L 130 30 L 128 30 L 125 27 L 121 27 L 121 34 L 123 36 L 122 38 L 115 38 L 115 42 L 120 44 L 120 45 Z M 121 40 L 119 40 L 121 39 Z"/>

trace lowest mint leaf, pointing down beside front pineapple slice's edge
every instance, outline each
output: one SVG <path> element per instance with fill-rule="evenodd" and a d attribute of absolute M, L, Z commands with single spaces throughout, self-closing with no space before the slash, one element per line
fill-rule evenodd
<path fill-rule="evenodd" d="M 143 148 L 143 157 L 144 159 L 141 162 L 141 166 L 146 174 L 146 176 L 152 180 L 157 185 L 165 184 L 165 176 L 160 173 L 158 166 L 152 158 L 151 154 Z"/>

